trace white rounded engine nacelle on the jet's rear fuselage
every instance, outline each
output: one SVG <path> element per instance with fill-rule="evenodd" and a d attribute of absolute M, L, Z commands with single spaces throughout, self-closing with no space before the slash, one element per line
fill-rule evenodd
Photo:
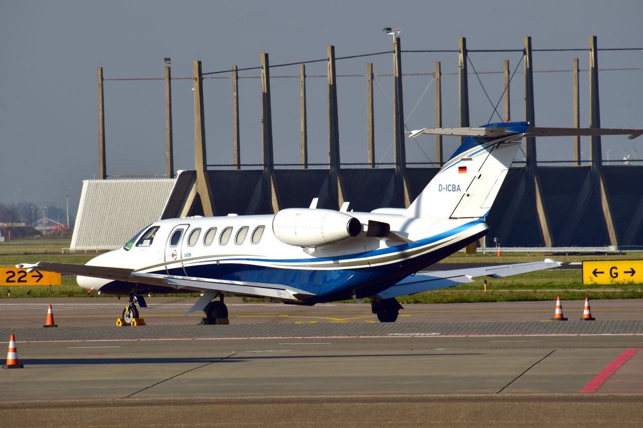
<path fill-rule="evenodd" d="M 273 231 L 284 244 L 317 247 L 358 236 L 359 220 L 334 210 L 287 208 L 275 214 Z"/>

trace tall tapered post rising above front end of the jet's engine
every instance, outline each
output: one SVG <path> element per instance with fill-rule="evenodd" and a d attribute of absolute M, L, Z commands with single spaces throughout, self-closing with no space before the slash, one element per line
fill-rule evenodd
<path fill-rule="evenodd" d="M 279 211 L 273 157 L 273 114 L 270 100 L 270 62 L 268 54 L 261 54 L 262 139 L 264 146 L 264 195 L 269 197 L 273 213 Z"/>

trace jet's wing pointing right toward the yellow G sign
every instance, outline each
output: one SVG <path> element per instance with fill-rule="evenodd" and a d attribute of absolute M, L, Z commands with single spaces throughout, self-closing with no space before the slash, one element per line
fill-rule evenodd
<path fill-rule="evenodd" d="M 422 272 L 413 276 L 407 276 L 394 286 L 379 292 L 376 296 L 382 299 L 389 299 L 422 291 L 455 287 L 456 285 L 473 282 L 473 277 L 475 276 L 502 278 L 503 276 L 551 269 L 552 267 L 559 267 L 560 265 L 561 263 L 546 258 L 543 262 L 513 263 L 511 265 L 471 267 L 454 269 L 452 271 Z"/>

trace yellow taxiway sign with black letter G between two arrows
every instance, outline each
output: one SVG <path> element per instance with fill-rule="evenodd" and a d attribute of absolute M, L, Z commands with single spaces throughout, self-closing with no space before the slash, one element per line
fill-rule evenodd
<path fill-rule="evenodd" d="M 643 283 L 643 260 L 592 260 L 583 262 L 583 284 Z"/>

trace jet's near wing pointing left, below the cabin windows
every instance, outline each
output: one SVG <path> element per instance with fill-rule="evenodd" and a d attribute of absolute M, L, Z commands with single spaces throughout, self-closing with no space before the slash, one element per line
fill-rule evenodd
<path fill-rule="evenodd" d="M 16 267 L 27 269 L 28 271 L 41 269 L 42 271 L 59 272 L 67 275 L 91 276 L 93 278 L 104 278 L 105 280 L 145 284 L 150 285 L 151 287 L 163 287 L 166 290 L 167 287 L 172 287 L 176 290 L 193 290 L 194 292 L 217 291 L 226 296 L 255 296 L 259 298 L 294 301 L 314 296 L 314 294 L 307 291 L 282 284 L 151 274 L 136 272 L 134 269 L 124 269 L 121 267 L 76 265 L 73 263 L 53 262 L 38 262 L 35 264 L 23 263 Z M 154 291 L 152 290 L 152 292 Z"/>

